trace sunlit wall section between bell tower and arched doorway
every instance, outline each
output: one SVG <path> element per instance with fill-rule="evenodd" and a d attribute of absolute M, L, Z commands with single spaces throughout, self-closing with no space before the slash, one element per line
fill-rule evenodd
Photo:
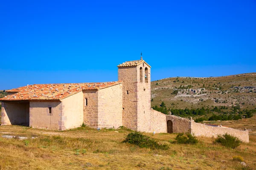
<path fill-rule="evenodd" d="M 167 133 L 166 114 L 151 109 L 151 132 Z"/>

